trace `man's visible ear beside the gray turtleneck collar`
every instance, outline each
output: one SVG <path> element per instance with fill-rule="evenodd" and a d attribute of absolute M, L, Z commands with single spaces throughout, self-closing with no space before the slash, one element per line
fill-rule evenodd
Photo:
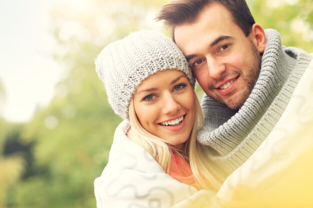
<path fill-rule="evenodd" d="M 264 29 L 259 24 L 254 23 L 249 36 L 254 42 L 258 52 L 260 54 L 263 53 L 267 42 Z"/>

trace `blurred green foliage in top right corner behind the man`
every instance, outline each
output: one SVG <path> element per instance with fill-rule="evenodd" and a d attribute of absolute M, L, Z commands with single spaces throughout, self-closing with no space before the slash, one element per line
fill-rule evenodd
<path fill-rule="evenodd" d="M 247 0 L 255 22 L 276 29 L 285 46 L 313 52 L 312 0 Z"/>

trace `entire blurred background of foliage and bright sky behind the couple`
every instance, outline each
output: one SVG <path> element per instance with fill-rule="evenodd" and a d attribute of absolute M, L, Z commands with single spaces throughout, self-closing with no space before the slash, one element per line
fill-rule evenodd
<path fill-rule="evenodd" d="M 145 28 L 169 34 L 162 22 L 154 21 L 166 2 L 0 0 L 1 62 L 8 63 L 0 65 L 0 208 L 95 208 L 93 180 L 106 165 L 121 120 L 106 102 L 94 59 L 107 43 L 131 31 Z M 257 23 L 280 32 L 283 45 L 313 52 L 312 0 L 247 2 Z M 38 19 L 47 23 L 35 25 Z M 44 38 L 35 30 L 39 27 Z M 19 44 L 9 45 L 10 41 Z M 35 53 L 42 58 L 21 62 L 32 52 L 27 44 L 38 44 Z M 12 65 L 14 69 L 8 67 Z M 18 82 L 11 83 L 8 74 Z M 27 90 L 34 83 L 33 92 Z M 8 90 L 10 84 L 20 94 Z M 36 94 L 40 89 L 43 94 Z M 44 101 L 37 101 L 34 110 L 26 106 L 40 96 Z M 16 115 L 10 117 L 13 106 Z M 23 111 L 28 116 L 22 117 Z"/>

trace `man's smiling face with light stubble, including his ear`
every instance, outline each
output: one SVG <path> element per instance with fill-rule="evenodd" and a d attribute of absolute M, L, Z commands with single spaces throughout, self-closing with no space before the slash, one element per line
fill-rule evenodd
<path fill-rule="evenodd" d="M 240 108 L 259 74 L 263 29 L 253 25 L 246 37 L 231 13 L 215 2 L 194 22 L 176 26 L 174 39 L 203 91 L 230 109 Z"/>

